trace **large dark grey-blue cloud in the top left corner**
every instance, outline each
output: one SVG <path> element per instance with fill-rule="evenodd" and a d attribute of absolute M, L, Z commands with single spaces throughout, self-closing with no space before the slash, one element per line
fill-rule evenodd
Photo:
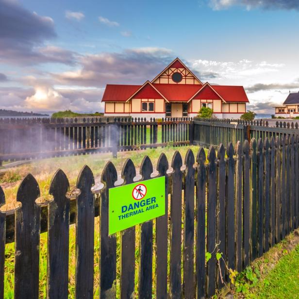
<path fill-rule="evenodd" d="M 75 53 L 45 42 L 56 37 L 54 21 L 23 8 L 17 1 L 0 0 L 0 63 L 34 65 L 75 63 Z"/>

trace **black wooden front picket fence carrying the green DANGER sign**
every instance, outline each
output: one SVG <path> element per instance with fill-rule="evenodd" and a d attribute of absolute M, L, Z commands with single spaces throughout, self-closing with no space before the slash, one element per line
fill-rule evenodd
<path fill-rule="evenodd" d="M 166 155 L 161 154 L 156 169 L 166 180 L 166 215 L 141 224 L 140 234 L 135 227 L 120 233 L 120 298 L 211 297 L 228 281 L 225 264 L 241 271 L 299 226 L 298 135 L 258 142 L 253 138 L 250 144 L 238 141 L 235 149 L 232 143 L 226 148 L 219 145 L 217 151 L 211 146 L 207 155 L 199 148 L 196 158 L 188 150 L 184 165 L 182 170 L 177 151 L 168 173 Z M 141 181 L 150 179 L 152 173 L 146 156 L 140 166 Z M 133 183 L 136 169 L 131 159 L 125 162 L 121 176 L 123 184 Z M 77 181 L 79 191 L 69 193 L 66 175 L 58 170 L 50 184 L 53 200 L 43 204 L 35 203 L 40 191 L 33 176 L 22 181 L 17 191 L 22 206 L 0 213 L 0 298 L 4 294 L 4 246 L 13 241 L 15 298 L 38 298 L 39 236 L 45 231 L 47 298 L 67 298 L 71 223 L 76 223 L 75 298 L 93 298 L 95 216 L 100 216 L 100 298 L 116 298 L 116 234 L 108 235 L 108 190 L 116 180 L 116 168 L 109 162 L 100 189 L 85 166 Z M 4 203 L 0 189 L 0 206 Z M 135 238 L 140 240 L 138 277 L 134 274 Z M 205 252 L 212 254 L 207 263 Z M 216 252 L 223 253 L 219 264 Z M 135 279 L 138 294 L 134 294 Z"/>

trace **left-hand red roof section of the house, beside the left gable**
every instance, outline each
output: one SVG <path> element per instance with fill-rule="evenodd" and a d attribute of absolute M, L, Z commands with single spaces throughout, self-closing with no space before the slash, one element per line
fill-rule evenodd
<path fill-rule="evenodd" d="M 142 85 L 107 84 L 103 94 L 103 102 L 124 102 L 128 100 Z"/>

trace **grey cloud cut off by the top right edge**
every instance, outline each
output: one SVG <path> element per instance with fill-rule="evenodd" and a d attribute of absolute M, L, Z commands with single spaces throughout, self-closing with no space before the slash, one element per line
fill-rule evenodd
<path fill-rule="evenodd" d="M 246 6 L 248 10 L 259 7 L 263 9 L 299 10 L 298 0 L 209 0 L 209 4 L 215 10 L 226 9 L 234 5 Z"/>

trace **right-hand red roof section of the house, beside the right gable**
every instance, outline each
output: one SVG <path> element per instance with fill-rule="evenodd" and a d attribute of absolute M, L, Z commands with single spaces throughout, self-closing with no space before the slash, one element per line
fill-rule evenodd
<path fill-rule="evenodd" d="M 249 103 L 243 86 L 212 85 L 212 87 L 226 102 Z"/>

